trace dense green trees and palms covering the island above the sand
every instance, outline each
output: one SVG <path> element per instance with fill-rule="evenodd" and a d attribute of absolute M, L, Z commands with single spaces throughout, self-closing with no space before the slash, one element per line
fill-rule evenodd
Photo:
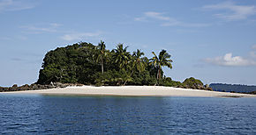
<path fill-rule="evenodd" d="M 165 77 L 162 67 L 172 68 L 172 60 L 166 50 L 158 55 L 153 52 L 153 58 L 148 59 L 141 50 L 131 53 L 127 48 L 128 46 L 118 44 L 117 48 L 108 50 L 103 41 L 98 46 L 79 42 L 72 46 L 58 47 L 46 53 L 37 83 L 203 87 L 203 83 L 194 78 L 181 83 Z"/>

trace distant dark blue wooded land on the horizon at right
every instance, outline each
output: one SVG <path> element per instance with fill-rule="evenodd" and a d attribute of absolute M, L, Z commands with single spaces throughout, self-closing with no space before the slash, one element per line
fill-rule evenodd
<path fill-rule="evenodd" d="M 241 84 L 211 83 L 210 87 L 215 91 L 225 92 L 252 93 L 256 91 L 256 86 Z"/>

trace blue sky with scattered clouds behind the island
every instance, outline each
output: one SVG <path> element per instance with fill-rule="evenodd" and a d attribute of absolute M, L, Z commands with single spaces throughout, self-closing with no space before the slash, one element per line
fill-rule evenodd
<path fill-rule="evenodd" d="M 256 1 L 0 0 L 0 86 L 37 81 L 42 59 L 79 41 L 166 49 L 172 80 L 256 85 Z"/>

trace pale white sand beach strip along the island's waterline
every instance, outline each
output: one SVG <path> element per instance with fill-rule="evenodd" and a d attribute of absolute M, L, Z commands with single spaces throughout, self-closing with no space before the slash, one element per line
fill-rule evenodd
<path fill-rule="evenodd" d="M 4 93 L 41 95 L 86 95 L 86 96 L 201 96 L 201 97 L 256 97 L 254 95 L 215 92 L 199 89 L 180 89 L 162 86 L 82 86 L 64 89 L 41 89 Z"/>

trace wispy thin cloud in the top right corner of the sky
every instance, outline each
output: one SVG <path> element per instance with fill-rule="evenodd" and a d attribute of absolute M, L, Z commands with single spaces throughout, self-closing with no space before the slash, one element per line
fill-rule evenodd
<path fill-rule="evenodd" d="M 225 13 L 215 14 L 215 16 L 227 20 L 245 19 L 256 14 L 256 7 L 254 5 L 237 5 L 231 2 L 205 5 L 203 6 L 203 9 L 225 11 Z"/>

